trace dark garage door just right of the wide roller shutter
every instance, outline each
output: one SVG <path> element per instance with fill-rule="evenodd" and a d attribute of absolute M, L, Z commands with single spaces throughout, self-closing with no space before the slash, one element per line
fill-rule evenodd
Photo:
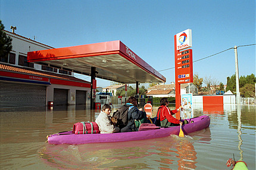
<path fill-rule="evenodd" d="M 55 89 L 54 88 L 54 105 L 67 105 L 68 102 L 68 90 L 67 89 Z"/>

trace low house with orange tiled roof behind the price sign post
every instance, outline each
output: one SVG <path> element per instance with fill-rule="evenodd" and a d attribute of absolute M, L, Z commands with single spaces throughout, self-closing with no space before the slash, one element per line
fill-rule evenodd
<path fill-rule="evenodd" d="M 191 93 L 198 95 L 198 90 L 195 85 L 190 84 Z M 180 84 L 180 93 L 189 93 L 188 84 Z M 158 84 L 148 88 L 146 96 L 153 97 L 175 97 L 175 84 Z"/>

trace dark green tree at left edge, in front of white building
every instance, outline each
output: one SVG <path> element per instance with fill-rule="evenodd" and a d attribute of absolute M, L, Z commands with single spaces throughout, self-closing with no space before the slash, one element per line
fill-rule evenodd
<path fill-rule="evenodd" d="M 11 37 L 4 32 L 4 24 L 0 20 L 0 61 L 7 62 L 8 53 L 13 49 L 11 41 Z"/>

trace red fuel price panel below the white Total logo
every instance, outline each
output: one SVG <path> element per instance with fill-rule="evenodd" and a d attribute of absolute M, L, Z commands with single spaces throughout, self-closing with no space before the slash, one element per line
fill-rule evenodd
<path fill-rule="evenodd" d="M 175 78 L 179 84 L 193 83 L 192 49 L 177 52 L 175 56 Z"/>

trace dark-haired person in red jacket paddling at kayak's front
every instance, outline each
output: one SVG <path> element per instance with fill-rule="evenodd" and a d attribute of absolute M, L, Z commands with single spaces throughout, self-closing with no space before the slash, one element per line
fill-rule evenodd
<path fill-rule="evenodd" d="M 175 109 L 171 111 L 168 108 L 168 104 L 169 102 L 166 97 L 163 97 L 160 100 L 161 106 L 158 108 L 158 111 L 157 111 L 157 120 L 158 122 L 160 120 L 160 124 L 158 124 L 158 126 L 161 125 L 161 127 L 168 127 L 168 126 L 182 125 L 182 121 L 172 116 L 176 114 L 178 111 L 180 111 L 180 108 L 182 108 L 182 106 L 180 106 L 179 109 Z"/>

